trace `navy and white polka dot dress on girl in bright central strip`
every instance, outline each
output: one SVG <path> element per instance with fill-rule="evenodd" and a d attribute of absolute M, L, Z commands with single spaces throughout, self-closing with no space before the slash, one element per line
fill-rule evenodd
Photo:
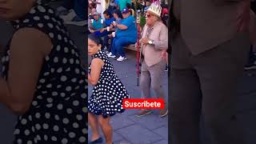
<path fill-rule="evenodd" d="M 88 110 L 95 115 L 102 114 L 103 118 L 124 112 L 122 99 L 130 98 L 125 86 L 114 73 L 113 65 L 105 52 L 99 50 L 97 54 L 94 54 L 94 58 L 101 58 L 105 65 L 102 67 L 98 84 L 94 86 L 93 94 L 89 99 Z"/>

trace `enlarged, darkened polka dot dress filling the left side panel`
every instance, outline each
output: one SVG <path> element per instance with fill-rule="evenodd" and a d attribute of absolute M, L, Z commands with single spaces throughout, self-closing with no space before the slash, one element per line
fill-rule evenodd
<path fill-rule="evenodd" d="M 78 50 L 62 20 L 54 16 L 50 7 L 36 5 L 29 14 L 12 24 L 16 31 L 25 27 L 40 30 L 52 42 L 52 50 L 42 65 L 30 109 L 18 117 L 14 143 L 86 143 L 86 70 L 80 66 Z M 9 58 L 8 48 L 2 58 L 4 78 L 7 78 Z"/>

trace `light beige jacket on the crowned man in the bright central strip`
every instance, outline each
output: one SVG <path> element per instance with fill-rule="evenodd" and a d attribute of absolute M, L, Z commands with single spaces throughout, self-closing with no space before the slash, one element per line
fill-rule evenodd
<path fill-rule="evenodd" d="M 144 26 L 142 30 L 142 38 L 146 38 L 146 30 L 148 26 Z M 149 36 L 154 41 L 154 45 L 146 44 L 142 46 L 142 54 L 147 66 L 153 66 L 163 60 L 162 54 L 168 47 L 168 30 L 162 22 L 156 22 Z"/>

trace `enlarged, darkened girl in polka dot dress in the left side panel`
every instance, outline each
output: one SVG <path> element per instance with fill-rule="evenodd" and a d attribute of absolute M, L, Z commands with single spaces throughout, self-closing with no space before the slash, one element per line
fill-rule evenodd
<path fill-rule="evenodd" d="M 0 102 L 19 115 L 14 143 L 87 142 L 86 71 L 62 20 L 35 0 L 0 7 L 14 26 L 0 78 Z"/>

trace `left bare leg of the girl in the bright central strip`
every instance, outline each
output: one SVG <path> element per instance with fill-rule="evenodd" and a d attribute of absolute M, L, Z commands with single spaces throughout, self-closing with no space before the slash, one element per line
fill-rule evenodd
<path fill-rule="evenodd" d="M 89 125 L 90 125 L 90 128 L 91 128 L 92 132 L 93 132 L 91 141 L 94 141 L 94 140 L 96 140 L 100 137 L 99 132 L 98 132 L 98 120 L 97 120 L 97 117 L 94 114 L 91 114 L 91 113 L 88 113 L 88 117 L 89 117 L 88 118 Z"/>

